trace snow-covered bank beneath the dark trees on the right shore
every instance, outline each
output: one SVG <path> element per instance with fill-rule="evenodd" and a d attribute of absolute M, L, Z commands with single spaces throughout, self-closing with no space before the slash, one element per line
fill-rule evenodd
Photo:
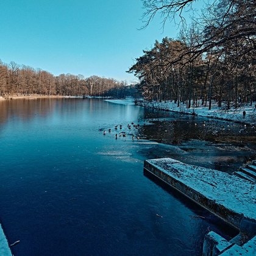
<path fill-rule="evenodd" d="M 173 112 L 188 113 L 191 115 L 205 116 L 210 118 L 218 118 L 229 121 L 235 121 L 245 124 L 255 124 L 256 123 L 256 108 L 255 104 L 252 104 L 252 107 L 249 105 L 244 105 L 240 108 L 230 108 L 226 110 L 224 108 L 217 107 L 216 102 L 213 102 L 211 110 L 208 110 L 208 107 L 191 107 L 187 108 L 186 104 L 180 104 L 180 107 L 177 107 L 177 104 L 174 101 L 166 102 L 148 102 L 144 100 L 138 100 L 137 105 L 143 107 L 157 108 L 161 110 L 168 110 Z M 245 117 L 243 118 L 243 112 L 246 112 Z"/>

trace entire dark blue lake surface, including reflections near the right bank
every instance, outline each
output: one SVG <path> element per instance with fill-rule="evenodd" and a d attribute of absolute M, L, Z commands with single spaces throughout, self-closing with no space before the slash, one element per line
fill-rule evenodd
<path fill-rule="evenodd" d="M 201 255 L 208 230 L 236 230 L 144 176 L 144 159 L 230 172 L 256 152 L 253 127 L 101 99 L 0 102 L 0 141 L 0 221 L 27 256 Z"/>

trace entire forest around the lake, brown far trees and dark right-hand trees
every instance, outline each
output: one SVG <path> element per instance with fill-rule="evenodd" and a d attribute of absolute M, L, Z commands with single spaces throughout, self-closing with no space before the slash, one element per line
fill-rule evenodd
<path fill-rule="evenodd" d="M 180 32 L 177 38 L 155 41 L 127 72 L 138 77 L 137 88 L 148 101 L 171 100 L 178 107 L 182 102 L 188 108 L 209 109 L 213 101 L 227 109 L 252 105 L 256 101 L 256 1 L 211 0 L 201 14 L 194 9 L 196 1 L 143 1 L 143 29 L 159 14 L 163 29 L 167 22 L 179 20 Z M 183 16 L 186 12 L 197 13 L 190 24 Z M 0 96 L 5 98 L 31 94 L 125 98 L 130 89 L 126 81 L 54 76 L 0 60 Z"/>

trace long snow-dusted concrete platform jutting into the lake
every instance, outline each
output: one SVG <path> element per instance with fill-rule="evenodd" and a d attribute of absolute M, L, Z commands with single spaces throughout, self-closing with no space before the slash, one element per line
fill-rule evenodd
<path fill-rule="evenodd" d="M 172 158 L 145 160 L 144 169 L 162 179 L 240 232 L 256 235 L 255 183 Z"/>

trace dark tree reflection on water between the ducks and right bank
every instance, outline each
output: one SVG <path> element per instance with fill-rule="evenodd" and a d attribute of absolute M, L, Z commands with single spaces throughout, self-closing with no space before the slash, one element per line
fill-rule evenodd
<path fill-rule="evenodd" d="M 225 142 L 244 146 L 256 141 L 254 127 L 244 127 L 224 121 L 204 121 L 203 119 L 176 119 L 152 121 L 154 125 L 142 126 L 141 137 L 166 144 L 180 144 L 189 140 L 205 140 L 215 143 Z"/>

